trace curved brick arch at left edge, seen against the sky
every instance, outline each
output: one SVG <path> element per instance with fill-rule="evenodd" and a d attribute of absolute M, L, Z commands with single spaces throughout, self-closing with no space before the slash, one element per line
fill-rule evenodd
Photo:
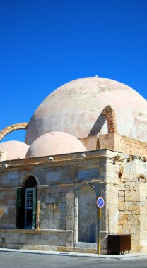
<path fill-rule="evenodd" d="M 8 134 L 11 133 L 12 131 L 15 130 L 20 130 L 20 129 L 27 129 L 28 123 L 16 123 L 11 126 L 7 126 L 3 130 L 0 131 L 0 141 Z"/>

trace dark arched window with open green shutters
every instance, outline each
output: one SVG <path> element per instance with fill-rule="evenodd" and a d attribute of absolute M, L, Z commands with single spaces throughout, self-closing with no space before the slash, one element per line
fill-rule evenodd
<path fill-rule="evenodd" d="M 24 188 L 17 190 L 16 226 L 18 228 L 35 229 L 36 227 L 36 191 L 37 182 L 30 176 Z"/>

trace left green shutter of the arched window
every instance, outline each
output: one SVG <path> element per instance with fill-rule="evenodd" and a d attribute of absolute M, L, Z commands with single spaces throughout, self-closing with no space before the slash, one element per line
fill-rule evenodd
<path fill-rule="evenodd" d="M 17 189 L 16 200 L 16 227 L 24 228 L 25 221 L 25 189 Z"/>

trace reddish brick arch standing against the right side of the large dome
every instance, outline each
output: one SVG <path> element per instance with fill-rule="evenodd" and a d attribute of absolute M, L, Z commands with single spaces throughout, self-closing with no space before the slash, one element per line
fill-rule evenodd
<path fill-rule="evenodd" d="M 117 121 L 114 109 L 108 105 L 103 109 L 102 114 L 107 118 L 108 133 L 117 133 Z"/>

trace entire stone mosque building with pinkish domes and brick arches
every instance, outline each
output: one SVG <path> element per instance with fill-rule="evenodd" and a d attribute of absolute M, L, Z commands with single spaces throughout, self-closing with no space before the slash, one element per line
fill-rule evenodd
<path fill-rule="evenodd" d="M 18 129 L 25 142 L 2 142 Z M 73 80 L 0 140 L 2 248 L 147 252 L 147 102 L 139 93 L 106 78 Z"/>

